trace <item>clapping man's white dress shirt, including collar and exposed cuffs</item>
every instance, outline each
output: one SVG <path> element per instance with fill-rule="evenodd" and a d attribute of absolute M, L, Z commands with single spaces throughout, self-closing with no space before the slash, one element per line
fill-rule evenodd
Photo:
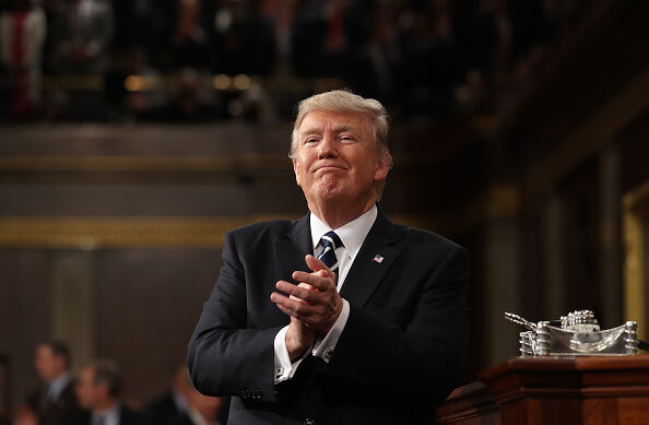
<path fill-rule="evenodd" d="M 338 258 L 339 264 L 339 275 L 338 275 L 338 291 L 340 292 L 342 285 L 344 284 L 345 278 L 350 272 L 352 263 L 356 258 L 356 255 L 361 250 L 369 229 L 374 225 L 376 217 L 378 215 L 378 210 L 376 205 L 373 205 L 367 212 L 361 215 L 358 219 L 355 219 L 345 225 L 333 229 L 335 234 L 340 237 L 343 243 L 342 247 L 338 247 L 335 249 L 335 257 Z M 320 239 L 327 233 L 332 231 L 324 222 L 322 222 L 316 214 L 310 214 L 310 227 L 311 227 L 311 238 L 314 244 L 314 256 L 317 256 L 319 251 L 322 249 L 322 245 L 320 244 Z M 347 322 L 347 318 L 350 316 L 350 303 L 343 298 L 343 308 L 338 317 L 338 320 L 324 335 L 322 339 L 316 340 L 314 346 L 311 347 L 310 354 L 316 357 L 322 358 L 324 362 L 329 363 L 333 351 L 335 350 L 335 344 Z M 284 381 L 286 379 L 291 379 L 297 370 L 297 367 L 302 363 L 302 361 L 309 354 L 307 350 L 306 354 L 291 363 L 291 357 L 288 356 L 288 350 L 286 349 L 286 331 L 288 330 L 288 326 L 282 328 L 280 332 L 275 335 L 274 340 L 274 349 L 275 349 L 275 383 Z"/>

